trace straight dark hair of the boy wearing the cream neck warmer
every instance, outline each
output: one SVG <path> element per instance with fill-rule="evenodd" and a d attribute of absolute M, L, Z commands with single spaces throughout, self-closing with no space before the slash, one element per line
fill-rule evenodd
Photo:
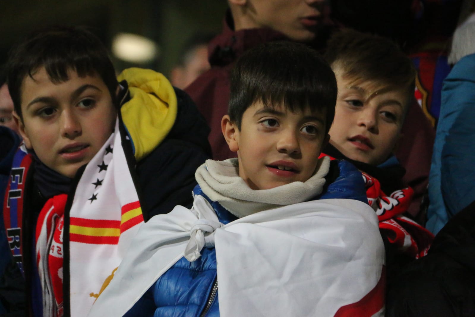
<path fill-rule="evenodd" d="M 246 51 L 231 72 L 228 114 L 241 129 L 242 115 L 262 101 L 292 112 L 326 109 L 325 133 L 333 123 L 337 86 L 332 68 L 304 44 L 268 42 Z"/>

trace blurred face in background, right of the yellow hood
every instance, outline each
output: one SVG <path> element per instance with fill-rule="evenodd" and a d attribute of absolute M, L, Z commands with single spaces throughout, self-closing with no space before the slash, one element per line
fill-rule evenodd
<path fill-rule="evenodd" d="M 184 65 L 177 66 L 171 71 L 171 84 L 184 89 L 209 68 L 208 46 L 205 44 L 196 46 L 185 56 Z"/>

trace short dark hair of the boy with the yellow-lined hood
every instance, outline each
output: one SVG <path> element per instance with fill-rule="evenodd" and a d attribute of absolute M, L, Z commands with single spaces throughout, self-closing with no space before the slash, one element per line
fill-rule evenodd
<path fill-rule="evenodd" d="M 109 89 L 115 104 L 117 78 L 107 48 L 93 33 L 83 27 L 53 26 L 31 33 L 10 50 L 7 82 L 15 111 L 21 114 L 21 85 L 40 67 L 45 67 L 53 83 L 67 81 L 68 70 L 78 76 L 99 75 Z"/>

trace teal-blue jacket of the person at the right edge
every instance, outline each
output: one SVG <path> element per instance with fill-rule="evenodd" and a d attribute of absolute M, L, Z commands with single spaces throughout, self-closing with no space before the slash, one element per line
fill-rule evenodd
<path fill-rule="evenodd" d="M 426 227 L 434 234 L 475 199 L 474 108 L 475 54 L 472 54 L 456 63 L 442 88 L 428 185 Z"/>

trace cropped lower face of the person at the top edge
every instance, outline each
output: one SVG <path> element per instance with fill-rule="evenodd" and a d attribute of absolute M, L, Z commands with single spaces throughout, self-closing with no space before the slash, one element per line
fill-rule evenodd
<path fill-rule="evenodd" d="M 235 21 L 236 30 L 270 28 L 299 42 L 313 40 L 317 30 L 323 26 L 326 13 L 329 13 L 327 0 L 229 0 L 229 2 L 234 4 L 236 10 L 245 12 L 242 21 Z"/>

